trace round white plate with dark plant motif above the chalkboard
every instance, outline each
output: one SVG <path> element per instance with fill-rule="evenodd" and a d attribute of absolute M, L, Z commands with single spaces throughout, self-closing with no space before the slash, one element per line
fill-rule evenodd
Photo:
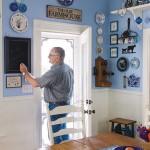
<path fill-rule="evenodd" d="M 25 15 L 16 13 L 12 15 L 10 19 L 10 25 L 14 31 L 24 32 L 28 28 L 28 19 Z"/>

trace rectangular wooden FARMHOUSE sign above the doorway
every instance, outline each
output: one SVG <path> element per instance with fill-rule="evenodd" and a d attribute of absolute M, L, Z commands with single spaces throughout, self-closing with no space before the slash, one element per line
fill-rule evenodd
<path fill-rule="evenodd" d="M 46 12 L 48 18 L 82 21 L 81 10 L 47 5 Z"/>

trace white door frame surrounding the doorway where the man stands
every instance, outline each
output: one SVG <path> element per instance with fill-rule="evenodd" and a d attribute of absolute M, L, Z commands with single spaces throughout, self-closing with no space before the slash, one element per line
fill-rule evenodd
<path fill-rule="evenodd" d="M 39 76 L 41 72 L 41 68 L 39 67 L 41 64 L 40 56 L 40 48 L 41 48 L 41 32 L 55 32 L 55 33 L 66 33 L 66 34 L 76 34 L 80 35 L 86 29 L 89 29 L 89 53 L 92 56 L 92 29 L 89 26 L 83 25 L 75 25 L 75 24 L 67 24 L 60 22 L 50 22 L 50 21 L 42 21 L 42 20 L 34 20 L 33 21 L 33 75 Z M 91 58 L 91 57 L 90 57 Z M 89 59 L 89 70 L 91 70 L 91 59 Z M 36 68 L 36 69 L 35 69 Z M 89 72 L 91 75 L 91 72 Z M 92 81 L 91 81 L 92 82 Z M 90 89 L 91 91 L 91 89 Z M 34 91 L 34 97 L 36 100 L 36 114 L 37 114 L 37 122 L 35 124 L 35 145 L 39 147 L 41 145 L 41 95 L 40 89 L 36 89 Z M 37 132 L 39 131 L 39 132 Z"/>

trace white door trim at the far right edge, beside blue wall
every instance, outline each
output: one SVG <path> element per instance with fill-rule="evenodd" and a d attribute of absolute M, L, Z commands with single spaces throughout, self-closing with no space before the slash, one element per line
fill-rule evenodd
<path fill-rule="evenodd" d="M 150 109 L 150 29 L 143 30 L 143 101 L 142 124 L 147 126 L 146 110 Z"/>

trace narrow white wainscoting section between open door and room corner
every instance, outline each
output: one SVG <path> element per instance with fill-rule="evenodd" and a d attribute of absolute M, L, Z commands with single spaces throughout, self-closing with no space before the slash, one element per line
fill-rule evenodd
<path fill-rule="evenodd" d="M 108 131 L 108 89 L 92 90 L 92 135 Z"/>

